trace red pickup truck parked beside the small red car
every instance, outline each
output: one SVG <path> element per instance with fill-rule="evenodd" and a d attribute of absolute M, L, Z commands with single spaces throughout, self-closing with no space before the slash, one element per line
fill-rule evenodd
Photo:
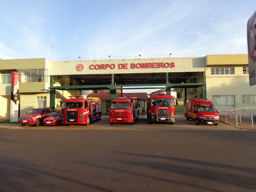
<path fill-rule="evenodd" d="M 22 127 L 28 124 L 34 124 L 38 127 L 43 124 L 44 118 L 49 116 L 52 111 L 51 108 L 31 109 L 20 117 L 20 124 Z"/>

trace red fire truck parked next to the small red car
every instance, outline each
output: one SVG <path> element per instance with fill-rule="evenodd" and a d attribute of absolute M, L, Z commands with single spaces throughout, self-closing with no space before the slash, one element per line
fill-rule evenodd
<path fill-rule="evenodd" d="M 101 100 L 85 95 L 62 100 L 62 124 L 85 124 L 101 119 Z"/>

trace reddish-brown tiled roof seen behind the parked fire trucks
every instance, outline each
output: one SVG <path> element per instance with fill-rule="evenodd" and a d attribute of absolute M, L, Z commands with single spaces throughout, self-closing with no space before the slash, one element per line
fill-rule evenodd
<path fill-rule="evenodd" d="M 123 93 L 123 97 L 137 97 L 138 100 L 147 100 L 147 93 Z M 109 93 L 90 93 L 87 97 L 98 97 L 102 101 L 110 100 Z M 121 93 L 116 93 L 116 97 L 121 97 Z"/>

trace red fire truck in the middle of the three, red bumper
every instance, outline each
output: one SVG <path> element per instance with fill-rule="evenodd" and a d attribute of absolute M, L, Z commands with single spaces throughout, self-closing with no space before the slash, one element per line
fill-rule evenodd
<path fill-rule="evenodd" d="M 110 103 L 109 123 L 130 123 L 139 118 L 140 103 L 137 97 L 119 97 Z"/>

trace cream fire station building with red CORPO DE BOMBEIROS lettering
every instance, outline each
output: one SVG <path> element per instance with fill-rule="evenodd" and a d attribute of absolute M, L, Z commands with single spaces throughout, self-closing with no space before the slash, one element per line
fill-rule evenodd
<path fill-rule="evenodd" d="M 0 118 L 10 117 L 12 71 L 19 72 L 19 112 L 60 109 L 71 95 L 91 90 L 182 88 L 182 98 L 212 100 L 215 107 L 256 107 L 249 85 L 248 54 L 106 60 L 0 60 Z M 155 87 L 153 87 L 155 86 Z M 134 88 L 136 87 L 136 88 Z"/>

